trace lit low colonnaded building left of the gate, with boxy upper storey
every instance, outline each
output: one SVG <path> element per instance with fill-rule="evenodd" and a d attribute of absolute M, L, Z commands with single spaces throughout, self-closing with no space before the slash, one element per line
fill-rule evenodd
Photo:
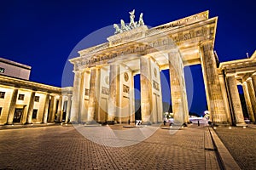
<path fill-rule="evenodd" d="M 31 82 L 30 71 L 0 58 L 0 125 L 68 122 L 73 88 Z"/>

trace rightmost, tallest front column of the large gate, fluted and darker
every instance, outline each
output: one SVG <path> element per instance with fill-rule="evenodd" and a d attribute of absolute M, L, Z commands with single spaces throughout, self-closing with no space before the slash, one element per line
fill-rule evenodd
<path fill-rule="evenodd" d="M 207 105 L 211 115 L 210 118 L 214 124 L 226 124 L 228 120 L 218 79 L 212 42 L 201 44 L 201 65 L 207 93 Z"/>

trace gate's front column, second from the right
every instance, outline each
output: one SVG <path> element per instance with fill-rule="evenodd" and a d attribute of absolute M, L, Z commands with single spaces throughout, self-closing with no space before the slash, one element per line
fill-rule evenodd
<path fill-rule="evenodd" d="M 189 122 L 183 60 L 177 50 L 173 50 L 168 55 L 174 124 L 181 125 Z"/>

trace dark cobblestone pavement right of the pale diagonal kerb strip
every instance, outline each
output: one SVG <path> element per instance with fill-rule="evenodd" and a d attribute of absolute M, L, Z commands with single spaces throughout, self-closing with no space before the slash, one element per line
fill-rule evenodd
<path fill-rule="evenodd" d="M 256 129 L 217 127 L 215 132 L 241 169 L 256 169 Z"/>

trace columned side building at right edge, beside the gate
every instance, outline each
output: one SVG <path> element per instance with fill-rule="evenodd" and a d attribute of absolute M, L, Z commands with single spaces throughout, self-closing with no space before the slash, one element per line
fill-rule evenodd
<path fill-rule="evenodd" d="M 241 85 L 251 122 L 256 120 L 256 51 L 248 59 L 220 63 L 218 67 L 228 122 L 244 124 L 237 85 Z"/>

